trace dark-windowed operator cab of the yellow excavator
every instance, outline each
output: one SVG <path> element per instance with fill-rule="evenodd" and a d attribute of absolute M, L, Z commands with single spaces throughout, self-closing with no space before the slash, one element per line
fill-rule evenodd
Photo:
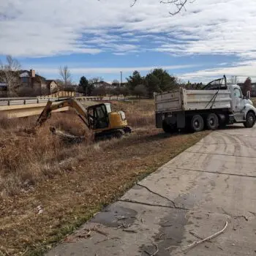
<path fill-rule="evenodd" d="M 108 111 L 104 104 L 96 105 L 88 109 L 89 126 L 92 129 L 108 128 Z"/>

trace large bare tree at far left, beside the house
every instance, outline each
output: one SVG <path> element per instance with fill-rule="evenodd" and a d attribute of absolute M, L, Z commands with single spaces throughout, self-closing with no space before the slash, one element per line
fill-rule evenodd
<path fill-rule="evenodd" d="M 20 70 L 20 63 L 12 56 L 6 56 L 6 63 L 0 60 L 0 81 L 6 83 L 7 91 L 10 96 L 16 96 L 16 89 L 19 86 L 18 71 Z"/>

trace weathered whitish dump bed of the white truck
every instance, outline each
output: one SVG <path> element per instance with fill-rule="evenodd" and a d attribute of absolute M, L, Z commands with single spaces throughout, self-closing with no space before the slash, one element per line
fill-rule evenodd
<path fill-rule="evenodd" d="M 155 96 L 156 112 L 231 108 L 231 93 L 226 90 L 179 89 Z"/>

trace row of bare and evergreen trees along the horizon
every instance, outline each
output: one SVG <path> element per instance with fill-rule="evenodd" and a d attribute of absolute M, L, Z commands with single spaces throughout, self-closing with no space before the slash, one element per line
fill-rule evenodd
<path fill-rule="evenodd" d="M 7 85 L 8 96 L 10 97 L 28 97 L 28 96 L 39 96 L 42 94 L 41 91 L 35 91 L 33 88 L 23 88 L 19 84 L 19 72 L 20 64 L 12 56 L 7 56 L 6 63 L 0 62 L 0 83 Z M 72 74 L 67 66 L 59 68 L 59 78 L 56 79 L 58 88 L 56 91 L 77 91 L 85 96 L 106 96 L 122 95 L 124 97 L 136 96 L 138 98 L 154 97 L 154 93 L 163 91 L 172 91 L 183 87 L 185 89 L 202 89 L 203 83 L 185 83 L 176 76 L 170 75 L 166 70 L 158 68 L 148 72 L 147 75 L 142 76 L 140 72 L 135 70 L 132 75 L 126 78 L 125 83 L 119 83 L 118 80 L 113 80 L 111 84 L 105 83 L 103 78 L 91 78 L 87 79 L 85 76 L 80 78 L 79 84 L 75 85 L 72 82 Z M 239 84 L 245 95 L 246 91 L 252 91 L 252 80 L 246 78 L 244 83 L 238 83 L 238 78 L 232 76 L 227 81 L 230 84 Z M 55 91 L 52 91 L 55 92 Z"/>

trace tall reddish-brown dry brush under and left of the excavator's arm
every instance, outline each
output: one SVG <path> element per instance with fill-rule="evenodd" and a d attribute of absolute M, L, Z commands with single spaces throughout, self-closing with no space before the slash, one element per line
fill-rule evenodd
<path fill-rule="evenodd" d="M 78 155 L 76 147 L 50 132 L 50 126 L 73 135 L 85 135 L 81 147 L 91 143 L 91 132 L 74 114 L 55 113 L 42 127 L 33 131 L 36 117 L 1 118 L 0 193 L 16 195 L 42 178 L 66 170 L 59 162 Z"/>

